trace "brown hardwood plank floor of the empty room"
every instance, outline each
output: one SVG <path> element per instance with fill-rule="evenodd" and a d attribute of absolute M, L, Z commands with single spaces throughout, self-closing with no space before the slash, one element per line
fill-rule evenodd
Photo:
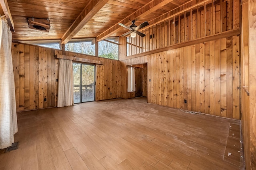
<path fill-rule="evenodd" d="M 20 112 L 19 147 L 0 154 L 0 169 L 240 170 L 239 158 L 224 160 L 230 123 L 240 125 L 146 98 Z"/>

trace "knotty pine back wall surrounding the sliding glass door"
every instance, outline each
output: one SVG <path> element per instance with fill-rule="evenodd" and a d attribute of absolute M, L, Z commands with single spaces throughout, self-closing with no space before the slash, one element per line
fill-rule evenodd
<path fill-rule="evenodd" d="M 103 65 L 96 65 L 96 100 L 119 98 L 120 61 L 12 43 L 17 111 L 56 106 L 58 96 L 58 82 L 56 82 L 58 59 L 54 57 L 56 54 L 104 62 Z"/>

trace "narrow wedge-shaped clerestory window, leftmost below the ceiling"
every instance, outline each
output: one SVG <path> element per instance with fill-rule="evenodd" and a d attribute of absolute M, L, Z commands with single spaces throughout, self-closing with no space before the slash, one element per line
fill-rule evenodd
<path fill-rule="evenodd" d="M 60 40 L 45 40 L 45 41 L 20 41 L 20 43 L 39 45 L 52 49 L 60 49 Z"/>

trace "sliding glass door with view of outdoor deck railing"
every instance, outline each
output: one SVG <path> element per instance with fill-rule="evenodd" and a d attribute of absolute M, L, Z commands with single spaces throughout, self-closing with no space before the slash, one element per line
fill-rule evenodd
<path fill-rule="evenodd" d="M 95 100 L 95 66 L 73 63 L 74 103 Z"/>

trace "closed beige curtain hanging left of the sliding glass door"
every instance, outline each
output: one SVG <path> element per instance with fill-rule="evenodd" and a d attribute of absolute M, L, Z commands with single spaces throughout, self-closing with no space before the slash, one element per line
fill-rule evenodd
<path fill-rule="evenodd" d="M 73 94 L 73 62 L 72 60 L 59 60 L 58 102 L 57 107 L 74 105 Z"/>

